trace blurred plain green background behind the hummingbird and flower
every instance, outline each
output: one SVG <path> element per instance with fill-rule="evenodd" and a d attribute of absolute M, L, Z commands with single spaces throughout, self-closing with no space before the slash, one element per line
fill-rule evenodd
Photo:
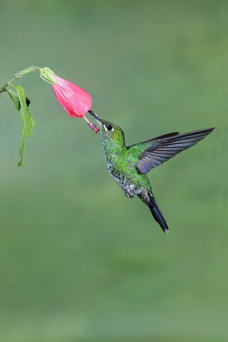
<path fill-rule="evenodd" d="M 21 114 L 4 93 L 1 341 L 227 341 L 228 2 L 0 3 L 1 85 L 48 66 L 129 145 L 216 127 L 149 173 L 165 236 L 111 179 L 101 135 L 37 71 L 15 81 L 35 128 L 18 168 Z"/>

